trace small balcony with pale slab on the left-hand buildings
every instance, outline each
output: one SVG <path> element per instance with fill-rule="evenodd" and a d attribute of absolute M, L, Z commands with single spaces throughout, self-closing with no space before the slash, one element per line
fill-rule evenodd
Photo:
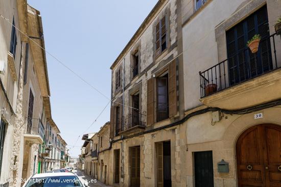
<path fill-rule="evenodd" d="M 43 144 L 44 126 L 40 119 L 28 118 L 26 132 L 24 134 L 25 141 L 32 144 Z"/>

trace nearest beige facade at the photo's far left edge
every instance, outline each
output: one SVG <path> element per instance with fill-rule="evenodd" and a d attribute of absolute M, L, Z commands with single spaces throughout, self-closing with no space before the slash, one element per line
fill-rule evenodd
<path fill-rule="evenodd" d="M 27 33 L 24 6 L 25 1 L 0 1 L 0 11 L 3 17 Z M 5 5 L 5 6 L 2 6 Z M 22 56 L 26 41 L 18 31 L 11 37 L 13 26 L 0 17 L 0 108 L 1 108 L 1 155 L 0 184 L 7 184 L 9 179 L 21 177 L 22 149 L 18 145 L 24 133 L 24 118 L 22 118 Z M 16 36 L 16 37 L 14 37 Z M 11 44 L 13 41 L 13 45 Z M 15 45 L 16 43 L 16 45 Z M 13 182 L 16 184 L 16 181 Z"/>

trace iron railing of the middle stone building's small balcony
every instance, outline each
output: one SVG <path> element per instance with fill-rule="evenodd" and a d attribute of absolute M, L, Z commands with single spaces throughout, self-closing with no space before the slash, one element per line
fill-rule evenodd
<path fill-rule="evenodd" d="M 123 117 L 122 130 L 127 130 L 134 126 L 146 126 L 146 112 L 134 110 L 131 114 Z"/>

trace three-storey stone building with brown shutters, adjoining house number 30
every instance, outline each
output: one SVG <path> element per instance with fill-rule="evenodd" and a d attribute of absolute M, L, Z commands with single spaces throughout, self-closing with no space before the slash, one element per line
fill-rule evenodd
<path fill-rule="evenodd" d="M 110 67 L 109 184 L 186 185 L 181 7 L 158 1 Z"/>

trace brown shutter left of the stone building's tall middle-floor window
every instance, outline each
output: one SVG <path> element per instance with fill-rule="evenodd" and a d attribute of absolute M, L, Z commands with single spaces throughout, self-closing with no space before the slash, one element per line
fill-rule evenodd
<path fill-rule="evenodd" d="M 147 124 L 154 123 L 154 78 L 147 81 Z"/>

